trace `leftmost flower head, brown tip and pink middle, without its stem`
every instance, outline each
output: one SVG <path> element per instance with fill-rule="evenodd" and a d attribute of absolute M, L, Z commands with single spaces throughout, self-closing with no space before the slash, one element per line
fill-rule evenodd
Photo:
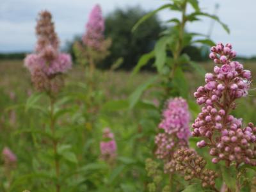
<path fill-rule="evenodd" d="M 58 92 L 60 83 L 56 83 L 55 78 L 67 72 L 72 66 L 72 61 L 69 54 L 59 52 L 60 42 L 54 31 L 50 12 L 39 13 L 36 36 L 38 40 L 35 53 L 28 54 L 24 64 L 31 72 L 31 80 L 37 90 Z"/>

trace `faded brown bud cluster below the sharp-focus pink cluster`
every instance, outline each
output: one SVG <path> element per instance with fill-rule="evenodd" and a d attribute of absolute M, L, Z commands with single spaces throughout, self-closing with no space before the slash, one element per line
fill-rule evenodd
<path fill-rule="evenodd" d="M 214 188 L 218 174 L 205 168 L 206 161 L 191 148 L 180 148 L 173 156 L 173 167 L 185 180 L 200 179 L 204 188 Z"/>

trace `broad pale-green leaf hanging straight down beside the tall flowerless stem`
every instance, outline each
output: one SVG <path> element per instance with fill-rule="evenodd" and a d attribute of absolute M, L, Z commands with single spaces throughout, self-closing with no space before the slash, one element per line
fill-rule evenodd
<path fill-rule="evenodd" d="M 166 45 L 168 44 L 168 40 L 170 40 L 170 36 L 163 36 L 157 41 L 154 47 L 156 55 L 155 65 L 158 72 L 161 72 L 164 63 L 166 62 Z"/>

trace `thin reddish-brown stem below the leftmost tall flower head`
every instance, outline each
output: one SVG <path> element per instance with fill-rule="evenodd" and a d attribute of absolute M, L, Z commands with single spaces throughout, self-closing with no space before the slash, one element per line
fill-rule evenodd
<path fill-rule="evenodd" d="M 55 120 L 54 120 L 54 98 L 51 99 L 51 131 L 52 131 L 52 143 L 53 143 L 53 152 L 54 152 L 54 163 L 55 163 L 55 172 L 57 180 L 60 177 L 60 161 L 58 159 L 57 147 L 58 141 L 54 138 L 55 135 Z M 56 192 L 60 192 L 60 184 L 57 182 L 56 184 Z"/>

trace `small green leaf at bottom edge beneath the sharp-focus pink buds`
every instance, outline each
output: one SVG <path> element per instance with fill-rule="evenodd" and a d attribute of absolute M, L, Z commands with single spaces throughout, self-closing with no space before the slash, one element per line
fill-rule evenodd
<path fill-rule="evenodd" d="M 231 191 L 236 191 L 236 168 L 234 168 L 234 166 L 230 166 L 229 168 L 221 166 L 221 173 L 228 188 L 231 189 Z"/>

